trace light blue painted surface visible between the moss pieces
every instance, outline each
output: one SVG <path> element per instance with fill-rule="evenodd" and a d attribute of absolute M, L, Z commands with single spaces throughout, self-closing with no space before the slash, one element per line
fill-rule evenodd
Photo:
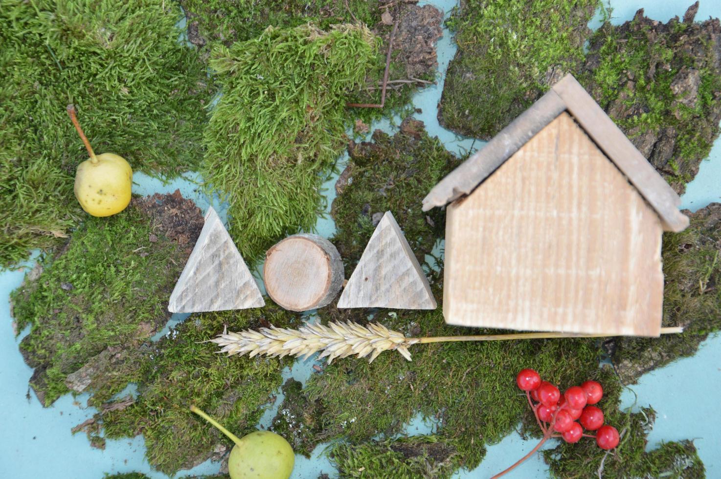
<path fill-rule="evenodd" d="M 446 15 L 456 5 L 454 0 L 422 1 L 421 4 L 433 4 L 443 9 Z M 682 16 L 692 0 L 644 0 L 611 1 L 613 22 L 620 24 L 631 19 L 639 8 L 645 8 L 648 17 L 663 22 L 671 17 Z M 696 20 L 721 16 L 721 0 L 702 0 Z M 598 22 L 592 22 L 597 27 Z M 415 117 L 423 120 L 430 135 L 437 135 L 451 151 L 461 152 L 479 148 L 483 142 L 469 138 L 459 138 L 443 129 L 436 119 L 436 105 L 441 97 L 443 80 L 448 61 L 453 58 L 456 45 L 448 30 L 438 41 L 438 84 L 430 86 L 415 95 L 413 104 L 423 112 Z M 483 105 L 479 104 L 479 108 Z M 381 128 L 394 133 L 399 119 L 394 122 L 384 120 L 373 124 L 371 130 Z M 347 156 L 340 158 L 340 169 Z M 133 192 L 151 194 L 154 192 L 173 192 L 180 188 L 185 197 L 195 200 L 205 210 L 210 200 L 199 194 L 193 180 L 198 177 L 189 174 L 191 181 L 179 179 L 162 184 L 141 174 L 136 174 Z M 325 183 L 328 204 L 335 196 L 333 184 L 335 176 Z M 684 208 L 695 211 L 709 202 L 721 201 L 721 141 L 717 141 L 712 152 L 701 165 L 699 174 L 687 188 L 682 197 Z M 221 205 L 214 205 L 224 217 Z M 332 219 L 319 218 L 318 233 L 330 236 L 335 230 Z M 30 265 L 32 266 L 32 264 Z M 151 470 L 144 458 L 143 438 L 113 440 L 107 442 L 105 451 L 93 449 L 85 434 L 71 435 L 71 428 L 91 417 L 94 408 L 85 407 L 87 396 L 73 398 L 66 395 L 50 408 L 40 406 L 35 395 L 28 389 L 27 382 L 32 370 L 27 367 L 19 354 L 18 344 L 23 331 L 17 338 L 12 330 L 12 318 L 9 315 L 7 299 L 9 293 L 20 285 L 26 269 L 0 274 L 0 478 L 102 478 L 104 473 L 140 471 L 152 478 L 167 476 Z M 256 272 L 258 274 L 258 272 Z M 260 282 L 260 281 L 259 281 Z M 169 326 L 182 321 L 181 315 L 175 315 Z M 166 330 L 162 331 L 164 333 Z M 159 333 L 158 336 L 162 335 Z M 309 360 L 297 363 L 292 370 L 284 371 L 286 377 L 294 377 L 304 382 L 311 374 Z M 132 388 L 131 388 L 132 389 Z M 271 405 L 260 423 L 270 424 L 275 410 L 282 401 L 278 392 L 275 404 Z M 696 356 L 656 370 L 643 376 L 637 385 L 624 393 L 624 407 L 634 409 L 640 406 L 653 406 L 658 413 L 653 431 L 649 435 L 649 449 L 660 442 L 676 439 L 694 439 L 707 467 L 709 478 L 721 478 L 721 415 L 718 413 L 721 398 L 721 337 L 716 335 L 702 344 Z M 433 424 L 417 418 L 408 425 L 408 434 L 428 434 Z M 461 471 L 459 477 L 487 478 L 493 473 L 505 469 L 516 462 L 536 444 L 535 441 L 523 441 L 518 434 L 511 434 L 498 444 L 488 447 L 485 460 L 473 471 Z M 553 447 L 553 444 L 549 444 Z M 328 473 L 335 477 L 335 469 L 322 455 L 324 445 L 317 447 L 311 460 L 296 457 L 293 478 L 316 478 L 319 473 Z M 216 473 L 217 462 L 204 462 L 190 471 L 182 471 L 177 477 L 195 474 Z M 548 476 L 547 467 L 538 455 L 518 467 L 509 478 L 544 478 Z"/>

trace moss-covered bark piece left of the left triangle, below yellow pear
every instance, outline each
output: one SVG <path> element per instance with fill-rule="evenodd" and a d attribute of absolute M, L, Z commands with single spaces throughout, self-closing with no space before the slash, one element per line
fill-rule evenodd
<path fill-rule="evenodd" d="M 165 222 L 182 210 L 185 236 Z M 68 392 L 68 375 L 105 352 L 137 346 L 169 318 L 167 298 L 203 217 L 180 194 L 133 198 L 110 218 L 88 218 L 39 276 L 12 293 L 20 350 L 35 367 L 30 384 L 44 406 Z"/>

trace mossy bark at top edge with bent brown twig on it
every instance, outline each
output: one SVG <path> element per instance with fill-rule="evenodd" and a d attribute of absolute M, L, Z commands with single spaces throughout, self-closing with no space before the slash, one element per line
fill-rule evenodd
<path fill-rule="evenodd" d="M 388 38 L 392 27 L 381 22 L 378 0 L 180 0 L 187 16 L 187 32 L 191 42 L 203 50 L 203 57 L 210 55 L 211 48 L 217 45 L 231 46 L 233 42 L 244 42 L 256 38 L 268 27 L 293 28 L 304 24 L 314 24 L 321 30 L 331 30 L 339 24 L 360 24 L 371 29 L 374 35 L 382 37 L 382 44 L 369 62 L 366 81 L 363 89 L 348 91 L 348 103 L 377 104 L 381 101 L 378 87 L 383 78 Z M 430 6 L 428 8 L 431 8 Z M 399 28 L 394 40 L 394 53 L 389 70 L 389 79 L 407 79 L 408 63 L 419 61 L 425 53 L 413 51 L 418 36 L 428 35 L 427 18 L 410 18 L 416 14 L 415 6 L 400 2 L 392 4 L 388 11 L 394 19 L 405 19 L 406 27 Z M 438 17 L 441 17 L 438 12 Z M 405 30 L 405 32 L 404 32 Z M 438 32 L 440 35 L 440 31 Z M 433 44 L 433 38 L 424 38 Z M 421 49 L 422 50 L 422 49 Z M 421 61 L 428 61 L 422 58 Z M 433 81 L 435 68 L 412 68 L 410 76 Z M 381 116 L 389 116 L 389 112 L 407 114 L 410 97 L 415 91 L 415 84 L 394 84 L 386 94 L 384 109 L 354 108 L 351 115 L 370 122 Z M 348 126 L 348 121 L 344 122 Z"/>

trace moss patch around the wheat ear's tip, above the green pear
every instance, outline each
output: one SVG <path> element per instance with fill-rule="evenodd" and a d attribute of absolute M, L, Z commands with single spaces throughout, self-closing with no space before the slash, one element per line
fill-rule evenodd
<path fill-rule="evenodd" d="M 202 343 L 223 331 L 258 328 L 260 321 L 298 326 L 299 317 L 266 300 L 264 308 L 191 315 L 154 344 L 138 349 L 138 364 L 115 364 L 138 385 L 138 398 L 126 408 L 101 407 L 95 417 L 105 437 L 143 434 L 150 464 L 163 473 L 193 467 L 208 457 L 219 459 L 233 443 L 188 409 L 195 404 L 242 437 L 255 431 L 264 406 L 280 387 L 286 362 L 255 357 L 227 357 Z M 94 379 L 95 394 L 114 392 L 104 376 Z M 221 447 L 218 448 L 218 444 Z"/>

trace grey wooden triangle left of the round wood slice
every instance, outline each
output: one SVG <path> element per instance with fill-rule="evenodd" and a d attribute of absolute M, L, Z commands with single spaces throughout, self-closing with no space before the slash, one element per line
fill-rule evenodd
<path fill-rule="evenodd" d="M 168 310 L 198 313 L 265 305 L 252 274 L 213 207 L 175 283 Z"/>

